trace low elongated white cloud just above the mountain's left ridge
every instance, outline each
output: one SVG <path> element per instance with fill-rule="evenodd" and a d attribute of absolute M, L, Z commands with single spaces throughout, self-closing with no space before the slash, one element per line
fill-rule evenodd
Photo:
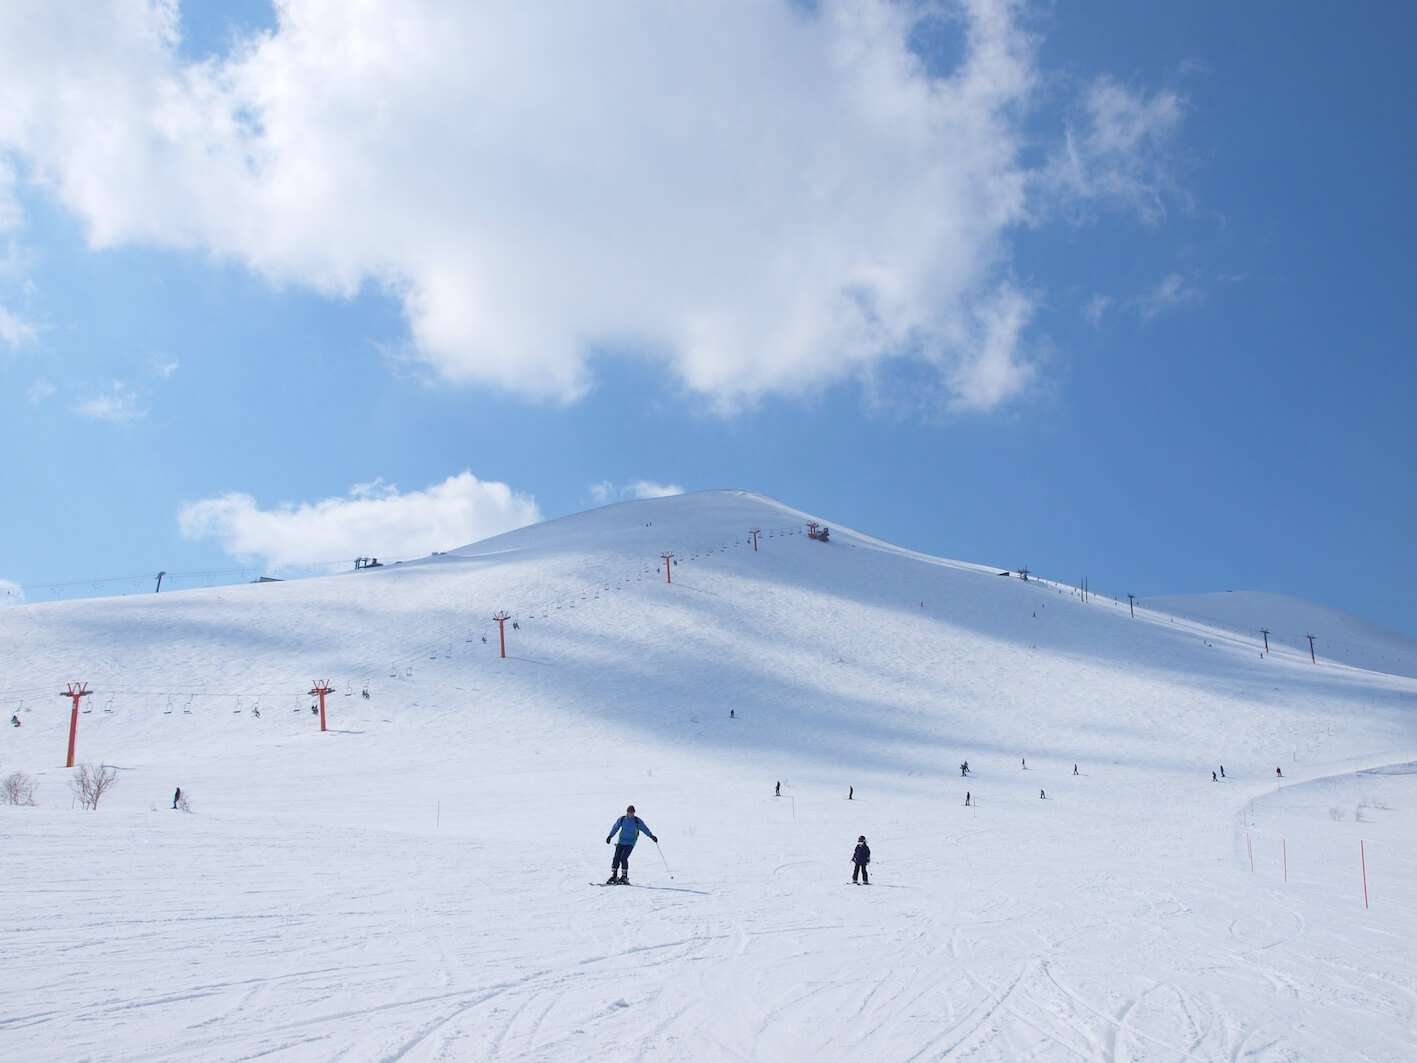
<path fill-rule="evenodd" d="M 271 567 L 354 557 L 421 557 L 452 550 L 541 519 L 531 497 L 463 471 L 424 490 L 361 483 L 349 497 L 262 510 L 242 493 L 186 503 L 184 539 L 215 539 L 230 556 Z"/>

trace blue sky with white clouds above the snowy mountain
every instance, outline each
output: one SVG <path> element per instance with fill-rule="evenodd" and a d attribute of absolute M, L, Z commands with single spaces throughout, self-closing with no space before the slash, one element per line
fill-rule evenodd
<path fill-rule="evenodd" d="M 1417 635 L 1403 4 L 0 11 L 6 601 L 745 488 Z"/>

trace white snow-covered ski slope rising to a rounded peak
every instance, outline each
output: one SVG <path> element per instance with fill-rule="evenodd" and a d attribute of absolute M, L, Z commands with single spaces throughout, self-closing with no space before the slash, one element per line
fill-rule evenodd
<path fill-rule="evenodd" d="M 1414 1057 L 1417 679 L 809 519 L 0 611 L 0 1059 Z"/>

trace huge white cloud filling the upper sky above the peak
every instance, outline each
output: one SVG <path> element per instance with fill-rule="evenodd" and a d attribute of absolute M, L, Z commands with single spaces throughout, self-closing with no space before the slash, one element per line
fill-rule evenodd
<path fill-rule="evenodd" d="M 14 0 L 0 152 L 96 247 L 383 286 L 451 381 L 570 401 L 619 351 L 734 408 L 908 359 L 989 408 L 1036 376 L 1030 189 L 1145 208 L 1179 113 L 1100 82 L 1040 180 L 1019 7 L 961 0 L 934 75 L 890 0 L 282 0 L 201 64 L 176 0 Z"/>

